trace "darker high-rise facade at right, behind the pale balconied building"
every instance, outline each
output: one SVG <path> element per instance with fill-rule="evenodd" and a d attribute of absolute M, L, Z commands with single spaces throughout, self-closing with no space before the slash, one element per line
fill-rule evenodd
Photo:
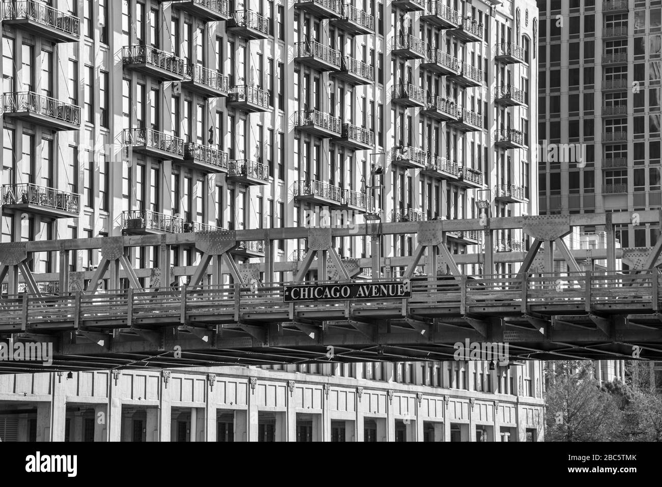
<path fill-rule="evenodd" d="M 633 224 L 616 229 L 621 247 L 653 246 L 659 235 L 635 215 L 662 206 L 661 7 L 538 2 L 540 213 L 631 212 Z M 565 146 L 566 155 L 545 146 Z"/>

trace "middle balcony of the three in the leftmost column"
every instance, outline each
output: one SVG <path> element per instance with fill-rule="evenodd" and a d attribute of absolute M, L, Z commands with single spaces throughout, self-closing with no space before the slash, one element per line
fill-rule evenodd
<path fill-rule="evenodd" d="M 3 115 L 50 130 L 79 130 L 81 108 L 34 91 L 3 94 Z"/>

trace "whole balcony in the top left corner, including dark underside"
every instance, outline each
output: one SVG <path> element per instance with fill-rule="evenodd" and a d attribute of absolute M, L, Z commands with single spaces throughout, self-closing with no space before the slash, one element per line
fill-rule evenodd
<path fill-rule="evenodd" d="M 78 42 L 81 21 L 78 17 L 44 5 L 41 1 L 3 1 L 2 23 L 28 30 L 51 42 Z"/>

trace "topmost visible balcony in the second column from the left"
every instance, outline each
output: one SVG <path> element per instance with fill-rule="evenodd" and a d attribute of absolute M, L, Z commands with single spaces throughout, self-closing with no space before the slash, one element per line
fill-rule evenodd
<path fill-rule="evenodd" d="M 152 46 L 125 46 L 122 64 L 161 81 L 182 81 L 184 60 Z"/>

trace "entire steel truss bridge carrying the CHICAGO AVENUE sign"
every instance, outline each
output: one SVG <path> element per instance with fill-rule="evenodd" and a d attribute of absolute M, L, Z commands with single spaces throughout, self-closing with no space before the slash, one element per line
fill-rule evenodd
<path fill-rule="evenodd" d="M 633 220 L 622 212 L 0 244 L 0 281 L 8 288 L 0 300 L 0 337 L 52 343 L 55 355 L 50 366 L 0 360 L 0 372 L 444 361 L 465 340 L 506 342 L 512 359 L 662 359 L 662 240 L 653 248 L 618 249 L 614 226 Z M 636 214 L 638 225 L 661 221 L 659 211 Z M 576 226 L 604 228 L 606 248 L 570 250 L 563 237 Z M 493 251 L 494 232 L 508 229 L 528 237 L 526 252 Z M 447 239 L 458 232 L 480 232 L 485 251 L 450 253 Z M 380 239 L 400 234 L 414 238 L 413 255 L 379 255 Z M 371 256 L 340 258 L 335 239 L 348 236 L 370 236 Z M 275 241 L 294 238 L 307 240 L 303 259 L 274 261 Z M 247 241 L 263 242 L 259 262 L 236 261 Z M 199 264 L 171 267 L 171 245 L 195 247 Z M 160 266 L 134 269 L 129 250 L 146 246 L 158 247 Z M 97 269 L 68 272 L 71 251 L 85 249 L 100 252 Z M 46 251 L 59 253 L 60 272 L 34 275 L 31 255 Z M 616 259 L 641 270 L 616 271 Z M 567 272 L 553 271 L 557 260 Z M 596 260 L 606 265 L 597 269 Z M 495 275 L 499 262 L 516 263 L 518 273 Z M 481 263 L 483 275 L 464 275 L 467 263 Z M 306 281 L 310 271 L 316 271 L 312 283 Z M 292 279 L 275 283 L 275 272 Z M 223 284 L 223 274 L 233 284 Z M 189 283 L 171 287 L 177 275 L 188 275 Z M 256 283 L 260 275 L 264 283 Z M 120 289 L 122 277 L 129 288 Z M 141 277 L 150 278 L 149 288 Z M 107 290 L 99 290 L 103 279 L 109 280 Z M 42 281 L 57 281 L 60 292 L 43 292 Z M 406 296 L 292 302 L 284 290 L 383 281 L 404 281 Z"/>

